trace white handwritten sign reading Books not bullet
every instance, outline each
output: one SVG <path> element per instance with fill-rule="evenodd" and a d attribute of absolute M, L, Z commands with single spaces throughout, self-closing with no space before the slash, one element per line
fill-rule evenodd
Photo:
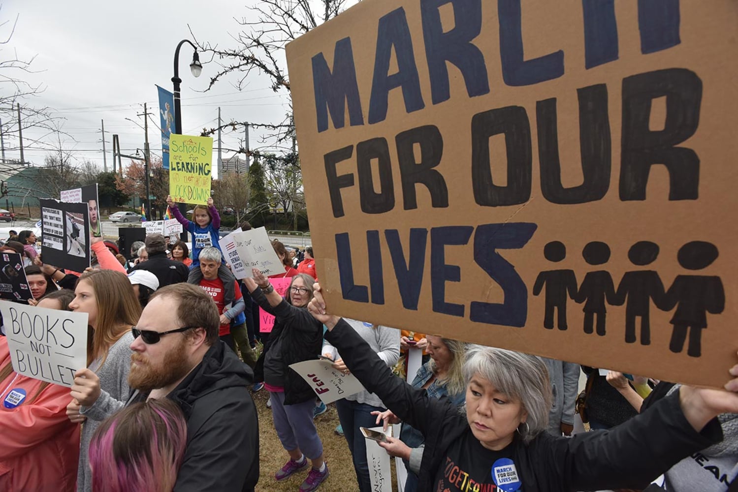
<path fill-rule="evenodd" d="M 71 387 L 87 367 L 87 313 L 0 301 L 16 373 Z"/>

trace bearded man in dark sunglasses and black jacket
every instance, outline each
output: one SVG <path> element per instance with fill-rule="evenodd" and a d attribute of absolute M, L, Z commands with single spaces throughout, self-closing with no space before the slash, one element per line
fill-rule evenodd
<path fill-rule="evenodd" d="M 127 404 L 169 398 L 187 418 L 175 492 L 253 491 L 259 429 L 252 370 L 218 339 L 218 308 L 196 285 L 156 291 L 133 328 Z"/>

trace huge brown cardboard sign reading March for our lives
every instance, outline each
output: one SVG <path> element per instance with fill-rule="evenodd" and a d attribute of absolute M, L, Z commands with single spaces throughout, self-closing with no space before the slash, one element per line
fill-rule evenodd
<path fill-rule="evenodd" d="M 737 36 L 732 0 L 366 0 L 293 41 L 331 310 L 722 386 Z"/>

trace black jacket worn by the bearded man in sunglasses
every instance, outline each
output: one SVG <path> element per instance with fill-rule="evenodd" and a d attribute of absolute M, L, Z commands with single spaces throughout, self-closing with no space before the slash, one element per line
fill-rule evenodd
<path fill-rule="evenodd" d="M 259 479 L 259 423 L 253 374 L 218 340 L 167 395 L 187 418 L 187 449 L 174 492 L 252 492 Z M 128 404 L 145 401 L 135 391 Z"/>

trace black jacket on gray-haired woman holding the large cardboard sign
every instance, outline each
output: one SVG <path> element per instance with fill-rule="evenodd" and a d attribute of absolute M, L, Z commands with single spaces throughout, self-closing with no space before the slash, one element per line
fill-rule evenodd
<path fill-rule="evenodd" d="M 325 339 L 336 347 L 351 373 L 375 393 L 388 409 L 421 431 L 425 451 L 418 474 L 418 491 L 433 490 L 436 471 L 446 450 L 464 433 L 471 433 L 466 415 L 448 398 L 427 396 L 392 374 L 361 336 L 343 319 Z M 555 437 L 541 432 L 525 445 L 516 439 L 513 461 L 523 491 L 596 491 L 644 488 L 652 479 L 689 454 L 723 440 L 717 419 L 695 432 L 684 417 L 678 395 L 655 403 L 656 408 L 610 431 Z M 490 463 L 492 465 L 492 463 Z"/>

